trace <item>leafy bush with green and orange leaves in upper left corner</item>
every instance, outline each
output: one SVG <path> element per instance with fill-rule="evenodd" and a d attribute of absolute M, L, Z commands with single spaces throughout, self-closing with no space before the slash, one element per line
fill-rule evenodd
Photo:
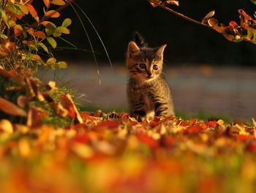
<path fill-rule="evenodd" d="M 37 73 L 39 65 L 53 70 L 67 67 L 66 62 L 56 60 L 52 49 L 57 48 L 56 38 L 69 34 L 67 27 L 72 20 L 65 18 L 61 26 L 53 23 L 54 18 L 60 16 L 61 7 L 69 2 L 43 2 L 45 7 L 42 10 L 36 10 L 33 1 L 6 0 L 1 3 L 0 65 L 4 69 L 15 69 L 31 77 Z M 53 10 L 52 5 L 58 6 L 59 10 Z M 32 23 L 28 20 L 32 20 Z"/>

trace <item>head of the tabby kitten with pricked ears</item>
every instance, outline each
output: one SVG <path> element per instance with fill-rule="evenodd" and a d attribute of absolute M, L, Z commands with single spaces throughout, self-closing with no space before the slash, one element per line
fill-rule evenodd
<path fill-rule="evenodd" d="M 140 82 L 149 82 L 161 75 L 165 47 L 166 45 L 159 48 L 139 48 L 135 42 L 129 42 L 127 49 L 129 76 Z"/>

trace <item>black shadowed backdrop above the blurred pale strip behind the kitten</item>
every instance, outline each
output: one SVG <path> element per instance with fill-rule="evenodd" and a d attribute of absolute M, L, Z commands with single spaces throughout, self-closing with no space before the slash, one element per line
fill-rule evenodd
<path fill-rule="evenodd" d="M 114 62 L 125 61 L 127 43 L 134 31 L 139 31 L 152 47 L 166 43 L 165 59 L 171 64 L 214 64 L 255 66 L 256 45 L 249 42 L 229 42 L 222 34 L 203 26 L 178 18 L 161 8 L 153 8 L 146 0 L 99 0 L 76 1 L 88 15 L 97 29 L 110 58 Z M 227 25 L 230 20 L 239 23 L 238 9 L 253 16 L 255 4 L 249 0 L 180 0 L 180 7 L 172 7 L 184 15 L 201 20 L 211 10 L 216 10 L 214 18 Z M 86 17 L 75 8 L 83 20 L 91 38 L 97 60 L 108 62 L 104 49 Z M 71 34 L 64 36 L 78 48 L 91 50 L 86 33 L 72 7 L 62 11 L 61 18 L 71 18 Z M 65 44 L 64 44 L 65 45 Z M 65 45 L 69 47 L 69 45 Z M 90 52 L 61 50 L 57 55 L 78 61 L 93 61 Z"/>

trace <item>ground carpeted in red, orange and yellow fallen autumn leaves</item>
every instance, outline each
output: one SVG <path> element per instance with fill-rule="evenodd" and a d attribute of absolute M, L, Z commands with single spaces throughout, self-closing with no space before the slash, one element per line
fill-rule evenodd
<path fill-rule="evenodd" d="M 256 123 L 80 112 L 0 69 L 0 192 L 256 192 Z"/>

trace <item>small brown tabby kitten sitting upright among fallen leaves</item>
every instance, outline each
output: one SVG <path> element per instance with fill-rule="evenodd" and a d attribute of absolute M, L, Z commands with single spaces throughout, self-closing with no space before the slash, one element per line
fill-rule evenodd
<path fill-rule="evenodd" d="M 135 33 L 135 41 L 127 49 L 129 83 L 127 95 L 130 116 L 165 118 L 175 115 L 170 88 L 162 77 L 163 53 L 166 45 L 149 48 L 143 37 Z"/>

